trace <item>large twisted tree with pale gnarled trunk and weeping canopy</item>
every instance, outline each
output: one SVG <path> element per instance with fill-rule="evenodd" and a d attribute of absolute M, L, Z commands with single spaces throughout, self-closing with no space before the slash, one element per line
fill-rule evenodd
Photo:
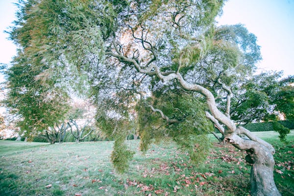
<path fill-rule="evenodd" d="M 274 148 L 238 126 L 270 113 L 263 103 L 268 94 L 246 88 L 261 59 L 259 46 L 242 25 L 215 25 L 222 5 L 222 0 L 21 1 L 10 32 L 20 51 L 8 82 L 10 98 L 17 92 L 27 99 L 18 100 L 24 107 L 13 101 L 8 106 L 27 114 L 32 101 L 48 98 L 51 88 L 63 92 L 69 80 L 76 89 L 90 87 L 89 96 L 99 108 L 98 125 L 116 138 L 111 158 L 118 170 L 126 169 L 132 157 L 124 140 L 133 121 L 143 150 L 170 136 L 195 161 L 205 157 L 205 134 L 215 126 L 225 142 L 245 150 L 253 163 L 251 195 L 279 196 Z M 18 81 L 29 85 L 12 85 Z M 38 116 L 46 110 L 31 109 Z"/>

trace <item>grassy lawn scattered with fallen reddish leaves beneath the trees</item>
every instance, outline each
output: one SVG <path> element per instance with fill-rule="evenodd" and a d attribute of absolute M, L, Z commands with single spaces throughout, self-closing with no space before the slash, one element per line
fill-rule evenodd
<path fill-rule="evenodd" d="M 274 178 L 279 191 L 294 195 L 294 131 L 288 144 L 279 142 L 274 132 L 255 134 L 276 148 Z M 109 162 L 113 142 L 0 141 L 0 195 L 250 195 L 250 165 L 243 159 L 245 153 L 234 147 L 215 143 L 207 161 L 194 166 L 172 142 L 152 146 L 145 155 L 137 150 L 138 144 L 128 141 L 136 154 L 129 171 L 120 175 Z"/>

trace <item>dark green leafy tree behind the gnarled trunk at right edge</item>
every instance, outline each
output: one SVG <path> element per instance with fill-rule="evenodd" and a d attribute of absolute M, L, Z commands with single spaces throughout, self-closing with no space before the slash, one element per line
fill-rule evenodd
<path fill-rule="evenodd" d="M 239 123 L 272 121 L 273 129 L 279 132 L 281 141 L 286 141 L 290 129 L 277 123 L 279 114 L 293 121 L 294 87 L 293 76 L 278 80 L 282 73 L 260 73 L 252 76 L 242 86 L 242 91 L 233 101 L 231 118 Z M 241 118 L 240 118 L 241 117 Z"/>

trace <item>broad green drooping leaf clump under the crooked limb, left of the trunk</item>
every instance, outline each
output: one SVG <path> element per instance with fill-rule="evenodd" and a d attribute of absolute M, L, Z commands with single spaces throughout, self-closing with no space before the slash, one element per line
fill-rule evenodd
<path fill-rule="evenodd" d="M 156 96 L 156 97 L 155 97 Z M 205 117 L 206 105 L 201 99 L 189 94 L 168 91 L 155 95 L 150 101 L 171 119 L 179 123 L 166 123 L 147 105 L 139 109 L 139 134 L 141 150 L 146 151 L 153 142 L 172 138 L 182 150 L 187 151 L 194 163 L 205 160 L 210 149 L 207 133 L 213 130 L 212 123 Z"/>

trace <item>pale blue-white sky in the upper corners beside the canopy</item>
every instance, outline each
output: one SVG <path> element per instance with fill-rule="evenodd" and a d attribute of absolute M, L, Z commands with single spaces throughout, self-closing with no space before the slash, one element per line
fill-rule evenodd
<path fill-rule="evenodd" d="M 15 20 L 17 0 L 0 0 L 0 63 L 9 64 L 16 46 L 4 33 Z M 263 60 L 259 72 L 284 71 L 294 75 L 294 0 L 228 0 L 219 25 L 244 24 L 257 36 Z M 0 75 L 0 82 L 3 76 Z"/>

